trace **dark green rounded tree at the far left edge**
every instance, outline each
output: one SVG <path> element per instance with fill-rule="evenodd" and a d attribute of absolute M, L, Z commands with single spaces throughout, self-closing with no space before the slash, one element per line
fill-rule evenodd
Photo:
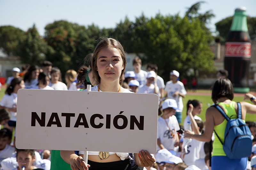
<path fill-rule="evenodd" d="M 0 26 L 0 48 L 9 55 L 17 55 L 19 40 L 25 38 L 25 32 L 14 26 Z"/>

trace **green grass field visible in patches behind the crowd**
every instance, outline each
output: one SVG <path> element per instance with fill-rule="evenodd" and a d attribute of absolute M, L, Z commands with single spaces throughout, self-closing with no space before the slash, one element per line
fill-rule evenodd
<path fill-rule="evenodd" d="M 0 92 L 0 100 L 3 98 L 4 96 L 4 92 L 5 92 L 5 88 L 2 88 L 2 91 Z M 210 90 L 197 90 L 197 92 L 211 92 Z M 199 117 L 201 117 L 202 121 L 205 121 L 205 111 L 206 109 L 209 107 L 207 105 L 207 103 L 209 103 L 210 105 L 212 105 L 212 99 L 211 99 L 211 95 L 209 94 L 209 96 L 199 96 L 199 95 L 186 95 L 185 98 L 183 98 L 183 111 L 182 111 L 182 122 L 184 121 L 185 117 L 187 116 L 187 103 L 188 100 L 199 100 L 203 103 L 203 111 L 200 115 L 198 115 Z M 244 97 L 234 97 L 234 101 L 238 102 L 238 101 L 243 101 Z M 251 101 L 247 101 L 249 103 L 252 103 Z M 247 114 L 246 115 L 246 121 L 256 121 L 256 116 L 255 115 L 250 115 Z"/>

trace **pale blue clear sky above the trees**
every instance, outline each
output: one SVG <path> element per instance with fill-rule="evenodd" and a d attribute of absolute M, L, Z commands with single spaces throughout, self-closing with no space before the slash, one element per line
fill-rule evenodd
<path fill-rule="evenodd" d="M 184 16 L 185 11 L 198 0 L 1 0 L 0 26 L 11 25 L 24 31 L 36 24 L 41 35 L 44 27 L 55 20 L 64 19 L 79 25 L 88 26 L 94 23 L 100 28 L 114 28 L 116 23 L 127 16 L 131 21 L 143 12 L 146 17 L 155 17 L 156 13 L 174 15 L 178 12 Z M 205 0 L 201 13 L 212 10 L 215 18 L 209 27 L 215 30 L 214 24 L 223 18 L 234 15 L 237 7 L 245 6 L 247 15 L 256 17 L 256 0 Z"/>

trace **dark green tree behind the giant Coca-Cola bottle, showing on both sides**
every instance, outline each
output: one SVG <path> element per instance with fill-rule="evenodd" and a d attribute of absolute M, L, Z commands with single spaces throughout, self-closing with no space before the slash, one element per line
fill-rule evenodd
<path fill-rule="evenodd" d="M 232 21 L 233 16 L 224 18 L 215 24 L 222 41 L 227 38 Z M 247 27 L 251 40 L 256 40 L 256 17 L 247 16 Z"/>

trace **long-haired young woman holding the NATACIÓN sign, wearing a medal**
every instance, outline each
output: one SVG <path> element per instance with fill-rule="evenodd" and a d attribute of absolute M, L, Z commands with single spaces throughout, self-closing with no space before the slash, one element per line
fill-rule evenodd
<path fill-rule="evenodd" d="M 92 74 L 98 84 L 92 87 L 92 91 L 130 92 L 121 86 L 125 65 L 124 48 L 120 42 L 112 38 L 100 41 L 92 56 Z M 72 170 L 87 170 L 88 167 L 90 170 L 131 169 L 128 153 L 88 152 L 88 164 L 85 163 L 82 155 L 77 156 L 74 151 L 60 151 L 60 155 L 70 164 Z M 144 150 L 134 154 L 134 157 L 139 166 L 151 166 L 156 160 L 148 151 Z"/>

